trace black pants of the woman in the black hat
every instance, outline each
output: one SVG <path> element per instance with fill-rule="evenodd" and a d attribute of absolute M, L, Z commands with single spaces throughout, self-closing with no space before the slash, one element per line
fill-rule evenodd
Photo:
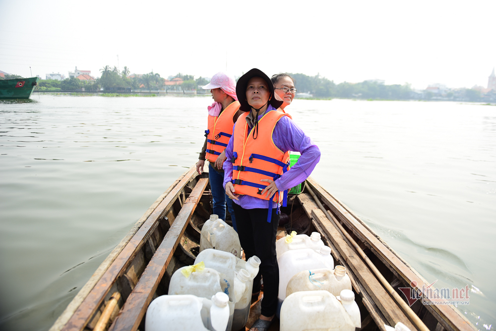
<path fill-rule="evenodd" d="M 267 209 L 244 209 L 235 203 L 233 207 L 238 235 L 246 259 L 256 255 L 261 261 L 258 275 L 253 279 L 253 292 L 260 290 L 260 277 L 263 277 L 261 314 L 270 317 L 277 310 L 279 292 L 279 266 L 276 255 L 276 234 L 279 224 L 277 208 L 272 209 L 272 219 L 268 223 Z"/>

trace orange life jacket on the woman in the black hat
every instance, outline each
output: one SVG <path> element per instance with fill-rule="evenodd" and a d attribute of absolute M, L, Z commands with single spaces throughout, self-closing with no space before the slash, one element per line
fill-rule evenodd
<path fill-rule="evenodd" d="M 272 201 L 286 205 L 287 190 L 278 191 L 271 198 L 262 196 L 262 190 L 268 185 L 260 179 L 276 180 L 287 171 L 289 165 L 289 152 L 283 152 L 274 144 L 272 132 L 277 122 L 289 114 L 280 111 L 269 111 L 258 120 L 258 136 L 253 139 L 252 131 L 248 133 L 246 117 L 248 112 L 242 114 L 234 128 L 234 157 L 233 178 L 235 194 L 245 194 L 255 198 L 269 200 L 269 209 Z M 253 130 L 253 129 L 252 129 Z M 271 212 L 269 211 L 269 217 Z M 269 220 L 270 221 L 270 218 Z"/>

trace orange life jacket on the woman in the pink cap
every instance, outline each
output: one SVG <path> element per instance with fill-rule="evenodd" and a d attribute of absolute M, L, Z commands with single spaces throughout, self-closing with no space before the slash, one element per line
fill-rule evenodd
<path fill-rule="evenodd" d="M 208 130 L 205 131 L 207 137 L 207 149 L 205 160 L 215 162 L 217 157 L 226 149 L 229 138 L 233 135 L 233 116 L 240 109 L 239 101 L 227 106 L 219 116 L 208 115 Z"/>

